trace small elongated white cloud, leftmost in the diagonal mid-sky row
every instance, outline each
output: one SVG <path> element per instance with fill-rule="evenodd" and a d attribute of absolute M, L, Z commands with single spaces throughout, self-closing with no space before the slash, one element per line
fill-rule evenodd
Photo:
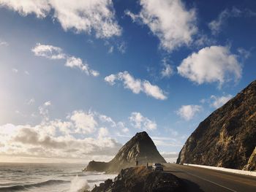
<path fill-rule="evenodd" d="M 50 59 L 63 59 L 66 58 L 66 55 L 63 53 L 60 47 L 54 47 L 53 45 L 41 45 L 37 43 L 32 49 L 34 55 L 42 56 Z"/>

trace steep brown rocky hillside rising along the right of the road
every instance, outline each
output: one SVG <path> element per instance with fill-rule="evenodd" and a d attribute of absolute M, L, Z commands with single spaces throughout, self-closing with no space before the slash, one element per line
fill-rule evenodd
<path fill-rule="evenodd" d="M 203 120 L 177 163 L 255 170 L 256 81 Z"/>

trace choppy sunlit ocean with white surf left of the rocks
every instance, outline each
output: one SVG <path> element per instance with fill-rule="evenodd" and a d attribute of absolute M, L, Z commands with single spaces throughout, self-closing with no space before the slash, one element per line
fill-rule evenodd
<path fill-rule="evenodd" d="M 113 179 L 116 174 L 82 172 L 83 164 L 0 163 L 0 191 L 77 192 Z"/>

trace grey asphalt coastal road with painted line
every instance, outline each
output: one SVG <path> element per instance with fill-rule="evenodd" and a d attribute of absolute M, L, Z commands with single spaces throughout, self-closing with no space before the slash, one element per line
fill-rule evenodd
<path fill-rule="evenodd" d="M 165 164 L 164 172 L 183 180 L 187 191 L 256 191 L 256 177 L 252 176 L 179 164 Z"/>

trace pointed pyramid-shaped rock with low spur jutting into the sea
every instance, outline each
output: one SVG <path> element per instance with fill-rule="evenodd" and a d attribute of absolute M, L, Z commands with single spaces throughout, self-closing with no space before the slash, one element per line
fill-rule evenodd
<path fill-rule="evenodd" d="M 132 137 L 111 161 L 90 161 L 85 171 L 119 172 L 129 166 L 135 166 L 135 161 L 139 164 L 166 163 L 165 158 L 160 155 L 156 145 L 145 131 Z"/>

